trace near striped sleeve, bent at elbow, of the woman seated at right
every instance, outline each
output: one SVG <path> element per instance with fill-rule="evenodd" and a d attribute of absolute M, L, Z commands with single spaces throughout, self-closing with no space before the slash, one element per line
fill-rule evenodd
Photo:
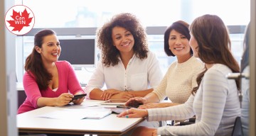
<path fill-rule="evenodd" d="M 201 120 L 192 125 L 165 126 L 158 128 L 158 135 L 215 135 L 223 117 L 225 102 L 228 95 L 228 79 L 223 74 L 214 70 L 205 74 L 201 82 L 203 101 L 201 106 Z M 198 89 L 199 90 L 199 89 Z M 195 101 L 196 101 L 195 96 Z M 193 108 L 195 108 L 193 107 Z M 169 115 L 176 109 L 169 111 Z"/>

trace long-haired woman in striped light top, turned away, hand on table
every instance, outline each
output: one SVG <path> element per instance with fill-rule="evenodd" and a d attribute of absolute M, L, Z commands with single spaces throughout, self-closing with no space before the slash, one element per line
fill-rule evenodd
<path fill-rule="evenodd" d="M 195 57 L 205 62 L 186 103 L 147 110 L 131 108 L 119 117 L 148 117 L 147 120 L 180 120 L 196 115 L 196 123 L 161 128 L 139 127 L 132 135 L 231 135 L 235 118 L 240 115 L 239 80 L 227 79 L 239 72 L 238 62 L 230 52 L 230 38 L 225 24 L 215 15 L 196 18 L 190 26 L 190 45 Z"/>

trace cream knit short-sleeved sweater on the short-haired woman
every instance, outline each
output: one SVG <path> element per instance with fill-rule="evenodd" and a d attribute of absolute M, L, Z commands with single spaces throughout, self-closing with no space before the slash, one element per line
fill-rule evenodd
<path fill-rule="evenodd" d="M 203 62 L 191 57 L 183 63 L 173 62 L 154 93 L 162 101 L 166 96 L 172 103 L 185 103 L 197 86 L 196 77 L 203 70 Z"/>

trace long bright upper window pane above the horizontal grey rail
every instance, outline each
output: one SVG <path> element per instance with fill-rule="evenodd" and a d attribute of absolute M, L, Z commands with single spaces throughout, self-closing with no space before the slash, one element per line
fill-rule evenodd
<path fill-rule="evenodd" d="M 99 27 L 121 12 L 134 13 L 144 26 L 169 26 L 177 20 L 191 23 L 206 13 L 220 16 L 226 25 L 247 25 L 250 21 L 250 0 L 130 0 L 121 3 L 118 0 L 23 1 L 35 15 L 34 28 Z"/>

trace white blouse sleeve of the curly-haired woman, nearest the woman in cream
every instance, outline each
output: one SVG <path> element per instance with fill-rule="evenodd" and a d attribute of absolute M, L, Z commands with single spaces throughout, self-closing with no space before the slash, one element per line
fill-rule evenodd
<path fill-rule="evenodd" d="M 163 78 L 163 73 L 161 72 L 159 60 L 153 52 L 149 53 L 148 59 L 148 81 L 151 88 L 156 88 Z"/>

